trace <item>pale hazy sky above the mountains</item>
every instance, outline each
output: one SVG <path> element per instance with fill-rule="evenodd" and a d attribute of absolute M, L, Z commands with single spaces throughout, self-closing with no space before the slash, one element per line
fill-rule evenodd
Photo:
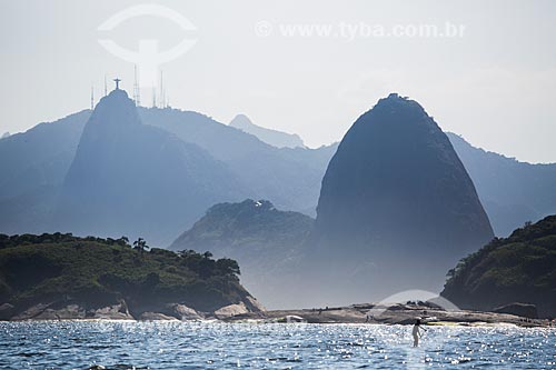
<path fill-rule="evenodd" d="M 196 28 L 141 16 L 98 27 L 139 3 Z M 340 140 L 377 99 L 420 102 L 445 131 L 519 160 L 556 162 L 556 1 L 73 1 L 0 0 L 0 134 L 90 106 L 105 73 L 132 92 L 129 50 L 196 44 L 161 66 L 170 104 L 228 123 L 242 112 L 317 147 Z M 415 29 L 464 27 L 457 37 Z M 369 30 L 371 30 L 369 32 Z M 384 32 L 383 32 L 384 31 Z M 312 33 L 311 33 L 312 32 Z M 383 37 L 394 33 L 399 37 Z M 302 33 L 302 34 L 300 34 Z M 110 83 L 110 89 L 112 83 Z M 151 89 L 141 92 L 151 101 Z"/>

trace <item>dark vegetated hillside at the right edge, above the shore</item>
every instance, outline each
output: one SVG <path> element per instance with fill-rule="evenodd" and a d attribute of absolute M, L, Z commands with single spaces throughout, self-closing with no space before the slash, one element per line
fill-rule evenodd
<path fill-rule="evenodd" d="M 448 271 L 441 293 L 463 308 L 534 303 L 556 316 L 556 216 L 494 239 Z"/>

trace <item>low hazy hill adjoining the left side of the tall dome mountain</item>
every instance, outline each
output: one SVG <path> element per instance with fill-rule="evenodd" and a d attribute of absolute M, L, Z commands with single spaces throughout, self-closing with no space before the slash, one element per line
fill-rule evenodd
<path fill-rule="evenodd" d="M 284 307 L 296 297 L 291 287 L 304 271 L 305 243 L 314 223 L 310 217 L 280 211 L 267 200 L 219 203 L 170 249 L 210 250 L 239 261 L 249 291 L 265 304 Z"/>

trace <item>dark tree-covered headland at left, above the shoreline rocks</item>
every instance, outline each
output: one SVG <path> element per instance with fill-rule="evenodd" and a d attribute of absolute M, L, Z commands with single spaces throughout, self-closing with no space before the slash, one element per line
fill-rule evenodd
<path fill-rule="evenodd" d="M 72 234 L 0 234 L 0 304 L 19 311 L 32 304 L 75 301 L 105 307 L 123 299 L 133 307 L 179 302 L 201 311 L 248 296 L 239 267 L 209 252 L 172 252 L 145 240 Z"/>

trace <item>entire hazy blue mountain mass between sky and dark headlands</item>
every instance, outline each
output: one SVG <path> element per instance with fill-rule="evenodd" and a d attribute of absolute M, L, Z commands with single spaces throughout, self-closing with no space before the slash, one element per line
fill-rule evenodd
<path fill-rule="evenodd" d="M 556 164 L 517 162 L 446 137 L 416 102 L 397 94 L 361 116 L 339 147 L 308 149 L 277 148 L 193 111 L 136 108 L 115 90 L 92 113 L 1 139 L 0 154 L 0 232 L 141 236 L 168 247 L 192 227 L 173 249 L 237 259 L 246 287 L 280 307 L 361 300 L 370 287 L 377 298 L 408 279 L 438 290 L 458 258 L 493 237 L 490 223 L 505 236 L 556 210 Z M 242 202 L 248 198 L 264 207 L 252 213 L 252 201 Z M 211 207 L 222 202 L 238 206 L 212 217 Z M 301 213 L 316 217 L 317 202 L 315 223 Z M 208 231 L 239 226 L 235 207 L 268 221 L 248 218 L 254 229 L 228 239 Z M 282 214 L 305 220 L 292 221 L 299 232 Z M 295 243 L 285 237 L 288 228 Z M 287 262 L 277 264 L 280 258 Z M 377 259 L 396 260 L 400 269 L 384 289 L 367 282 L 376 278 Z M 394 272 L 388 263 L 383 267 Z M 423 279 L 416 266 L 426 267 Z M 290 284 L 325 284 L 327 293 L 290 299 L 285 276 Z M 348 281 L 365 283 L 346 289 Z"/>

